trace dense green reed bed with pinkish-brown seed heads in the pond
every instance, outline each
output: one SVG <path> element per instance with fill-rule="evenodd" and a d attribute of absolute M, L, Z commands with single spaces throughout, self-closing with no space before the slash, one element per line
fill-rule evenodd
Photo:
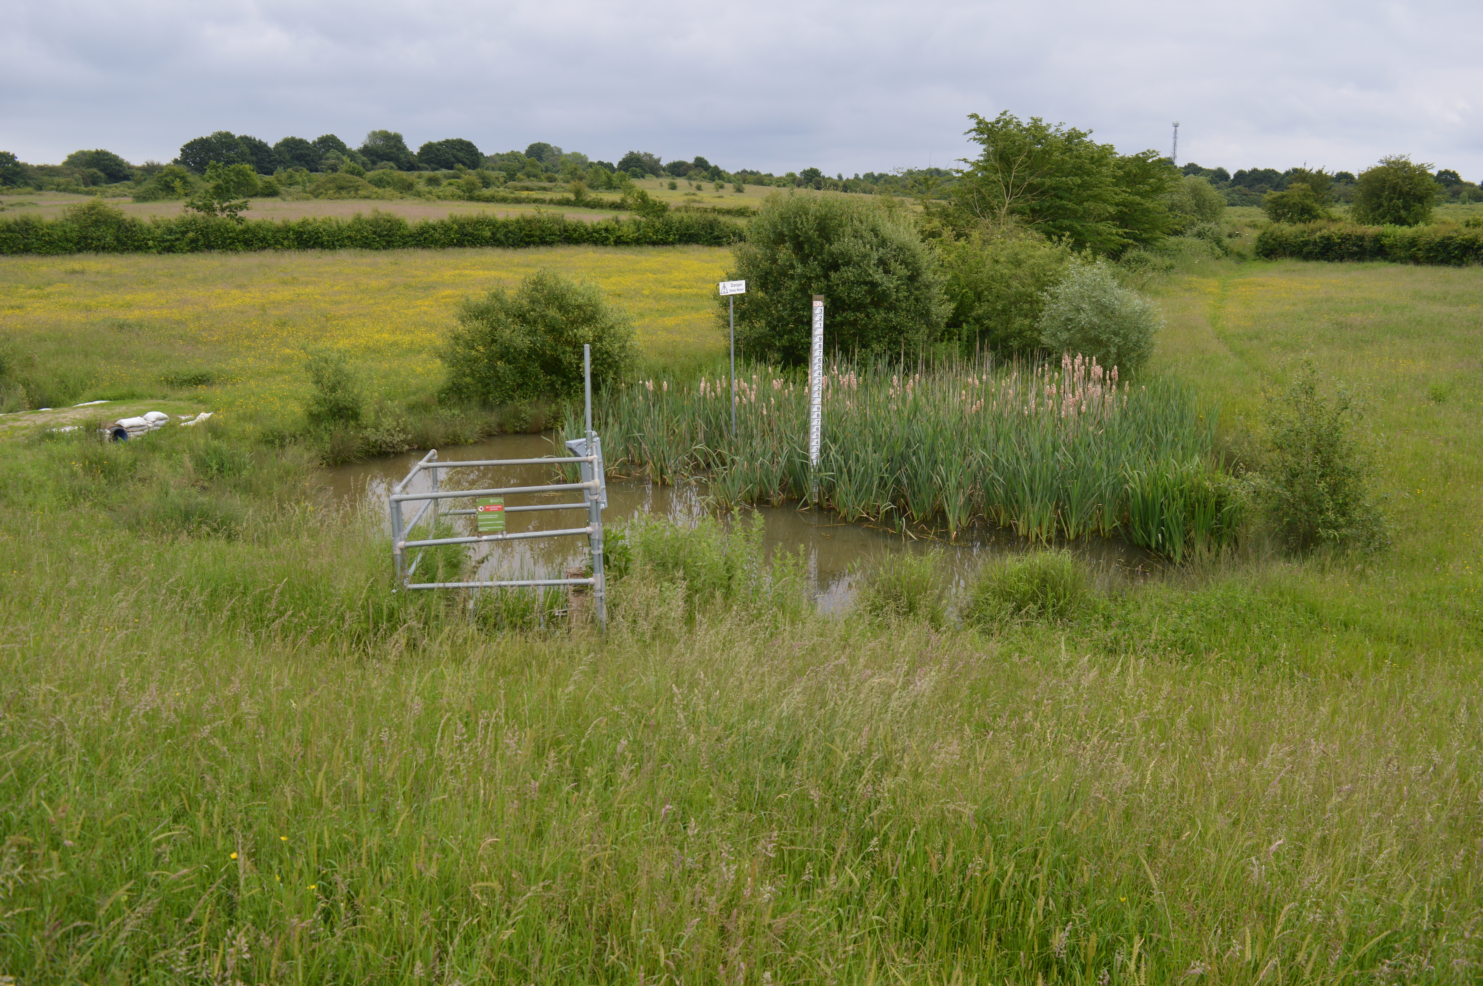
<path fill-rule="evenodd" d="M 703 477 L 724 507 L 805 501 L 949 538 L 973 523 L 1032 541 L 1115 535 L 1176 562 L 1241 523 L 1238 486 L 1212 457 L 1215 412 L 1173 381 L 1134 386 L 1081 356 L 911 372 L 835 360 L 817 470 L 808 383 L 771 366 L 739 377 L 736 433 L 728 378 L 638 381 L 595 412 L 610 472 Z"/>

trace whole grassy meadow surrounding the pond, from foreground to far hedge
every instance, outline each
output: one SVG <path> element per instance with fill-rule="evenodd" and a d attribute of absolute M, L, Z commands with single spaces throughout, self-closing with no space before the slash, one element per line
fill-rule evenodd
<path fill-rule="evenodd" d="M 297 414 L 304 345 L 436 386 L 454 304 L 552 265 L 657 372 L 724 251 L 7 258 L 77 402 L 206 427 L 0 439 L 0 977 L 346 983 L 1470 983 L 1483 974 L 1483 270 L 1206 259 L 1154 371 L 1238 452 L 1311 357 L 1367 406 L 1396 547 L 1249 544 L 980 630 L 734 578 L 608 636 L 392 592 Z M 179 368 L 224 383 L 171 388 Z M 790 574 L 792 572 L 792 574 Z"/>

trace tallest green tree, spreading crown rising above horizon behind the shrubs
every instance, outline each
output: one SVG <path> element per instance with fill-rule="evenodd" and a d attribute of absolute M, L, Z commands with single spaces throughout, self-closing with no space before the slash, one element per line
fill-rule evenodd
<path fill-rule="evenodd" d="M 1112 255 L 1167 234 L 1166 202 L 1180 175 L 1155 151 L 1120 156 L 1089 130 L 1040 117 L 1022 123 L 1007 111 L 970 119 L 967 135 L 983 153 L 962 162 L 952 188 L 970 221 L 1019 221 L 1077 249 Z"/>

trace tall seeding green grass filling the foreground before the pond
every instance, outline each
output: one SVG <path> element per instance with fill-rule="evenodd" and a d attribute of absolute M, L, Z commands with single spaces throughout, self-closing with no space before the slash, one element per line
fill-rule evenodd
<path fill-rule="evenodd" d="M 108 469 L 138 492 L 222 440 Z M 39 479 L 80 448 L 19 458 Z M 99 520 L 102 486 L 0 513 L 6 976 L 1111 986 L 1483 959 L 1476 660 L 1163 657 L 1198 596 L 1115 651 L 1091 624 L 828 618 L 756 605 L 761 553 L 719 525 L 639 532 L 607 638 L 489 635 L 392 595 L 363 517 L 273 506 L 248 476 L 274 469 L 300 474 L 212 473 L 246 504 L 230 537 Z"/>

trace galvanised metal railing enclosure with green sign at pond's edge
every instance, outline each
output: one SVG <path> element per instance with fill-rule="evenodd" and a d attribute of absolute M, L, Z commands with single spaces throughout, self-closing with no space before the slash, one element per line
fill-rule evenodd
<path fill-rule="evenodd" d="M 608 626 L 608 608 L 607 608 L 607 580 L 602 571 L 602 509 L 608 504 L 608 488 L 605 482 L 605 470 L 602 467 L 602 443 L 592 430 L 592 347 L 583 347 L 583 369 L 586 374 L 586 393 L 587 393 L 587 434 L 584 439 L 574 439 L 567 442 L 567 448 L 571 449 L 569 457 L 553 457 L 553 458 L 497 458 L 497 460 L 479 460 L 470 463 L 439 463 L 437 449 L 429 452 L 420 463 L 412 466 L 412 472 L 406 474 L 406 479 L 399 482 L 392 488 L 390 509 L 392 509 L 392 556 L 396 560 L 396 580 L 400 583 L 402 589 L 526 589 L 535 586 L 592 586 L 592 600 L 593 609 L 596 611 L 598 626 L 607 629 Z M 506 486 L 501 489 L 442 489 L 439 482 L 439 470 L 445 469 L 480 469 L 486 466 L 558 466 L 558 464 L 575 464 L 581 469 L 581 482 L 575 483 L 547 483 L 538 486 Z M 403 492 L 408 485 L 417 477 L 418 473 L 429 473 L 432 476 L 432 489 L 427 492 Z M 504 498 L 510 494 L 538 494 L 538 492 L 581 492 L 581 500 L 577 503 L 538 503 L 528 507 L 507 507 Z M 473 500 L 475 507 L 470 510 L 439 510 L 439 501 L 442 500 Z M 423 506 L 417 510 L 409 522 L 402 519 L 402 504 L 423 501 Z M 534 510 L 586 510 L 587 512 L 587 526 L 583 528 L 565 528 L 561 531 L 513 531 L 507 532 L 504 529 L 506 514 L 510 513 L 526 513 Z M 429 537 L 421 540 L 411 540 L 408 535 L 412 528 L 421 523 L 424 519 L 433 520 L 433 534 L 436 534 L 437 516 L 472 516 L 476 519 L 478 534 L 473 537 L 452 537 L 439 538 Z M 412 575 L 417 572 L 417 565 L 423 560 L 421 549 L 436 547 L 439 544 L 486 544 L 492 541 L 523 541 L 529 538 L 558 538 L 558 537 L 572 537 L 586 535 L 587 546 L 592 552 L 592 577 L 589 578 L 521 578 L 521 580 L 492 580 L 492 581 L 467 581 L 467 583 L 414 583 Z M 417 557 L 408 563 L 408 555 L 417 550 Z"/>

